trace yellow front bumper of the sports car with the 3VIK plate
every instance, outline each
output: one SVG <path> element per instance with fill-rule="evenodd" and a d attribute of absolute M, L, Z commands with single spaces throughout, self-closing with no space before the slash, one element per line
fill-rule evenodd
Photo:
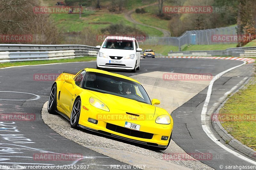
<path fill-rule="evenodd" d="M 78 122 L 81 128 L 99 132 L 108 136 L 118 137 L 128 141 L 160 148 L 166 148 L 169 143 L 169 138 L 172 134 L 173 128 L 172 119 L 170 124 L 158 124 L 155 122 L 155 118 L 152 118 L 151 120 L 124 120 L 123 117 L 121 119 L 113 119 L 113 117 L 111 117 L 110 119 L 99 120 L 99 115 L 113 113 L 99 111 L 98 108 L 89 105 L 85 107 L 88 107 L 88 110 L 81 109 Z M 124 113 L 118 114 L 123 114 L 124 116 L 126 115 L 125 111 Z M 88 122 L 89 118 L 97 120 L 97 124 Z M 125 122 L 140 125 L 140 131 L 125 128 Z M 166 136 L 168 139 L 161 140 L 162 136 Z"/>

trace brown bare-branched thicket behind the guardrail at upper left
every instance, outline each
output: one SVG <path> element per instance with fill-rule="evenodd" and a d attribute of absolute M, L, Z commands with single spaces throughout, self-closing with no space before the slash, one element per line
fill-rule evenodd
<path fill-rule="evenodd" d="M 60 42 L 55 23 L 49 15 L 35 13 L 35 6 L 40 5 L 34 0 L 1 0 L 0 34 L 33 35 L 33 41 L 27 43 L 37 43 L 34 41 L 34 35 L 44 37 L 44 41 L 40 41 L 41 44 Z"/>

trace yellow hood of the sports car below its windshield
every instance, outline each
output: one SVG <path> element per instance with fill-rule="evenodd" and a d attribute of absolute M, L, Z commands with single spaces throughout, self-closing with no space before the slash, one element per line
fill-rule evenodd
<path fill-rule="evenodd" d="M 103 102 L 109 108 L 110 113 L 133 113 L 133 114 L 145 114 L 154 116 L 156 107 L 153 105 L 149 105 L 146 103 L 142 103 L 136 100 L 107 94 L 94 92 L 90 90 L 86 90 L 87 92 L 92 93 L 93 95 L 90 97 L 95 97 L 96 99 Z M 88 95 L 88 94 L 87 94 Z"/>

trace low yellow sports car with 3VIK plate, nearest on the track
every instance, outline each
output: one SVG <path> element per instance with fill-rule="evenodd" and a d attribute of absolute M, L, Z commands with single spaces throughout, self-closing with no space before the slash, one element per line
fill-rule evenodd
<path fill-rule="evenodd" d="M 160 101 L 150 101 L 142 85 L 129 77 L 86 68 L 64 71 L 52 85 L 48 112 L 59 113 L 72 128 L 81 127 L 112 137 L 165 150 L 173 121 Z"/>

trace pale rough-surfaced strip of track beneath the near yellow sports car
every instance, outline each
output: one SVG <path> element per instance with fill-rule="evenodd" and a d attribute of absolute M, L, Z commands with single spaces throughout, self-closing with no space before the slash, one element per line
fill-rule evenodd
<path fill-rule="evenodd" d="M 164 153 L 186 154 L 186 152 L 173 141 L 171 141 L 165 151 L 151 151 L 139 146 L 102 137 L 101 135 L 95 135 L 84 129 L 73 129 L 70 127 L 68 120 L 61 115 L 49 114 L 47 111 L 47 103 L 48 102 L 44 103 L 42 109 L 42 119 L 44 123 L 61 136 L 92 149 L 93 151 L 130 165 L 146 165 L 146 169 L 212 169 L 198 160 L 164 160 Z"/>

